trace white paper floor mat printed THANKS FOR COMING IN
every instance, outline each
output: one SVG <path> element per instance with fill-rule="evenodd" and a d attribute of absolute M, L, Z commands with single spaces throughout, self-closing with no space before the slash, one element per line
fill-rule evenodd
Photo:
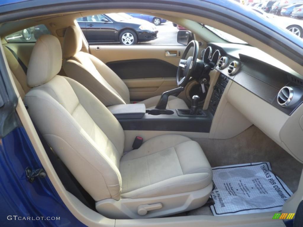
<path fill-rule="evenodd" d="M 268 162 L 215 167 L 213 182 L 211 211 L 215 216 L 281 211 L 292 195 Z"/>

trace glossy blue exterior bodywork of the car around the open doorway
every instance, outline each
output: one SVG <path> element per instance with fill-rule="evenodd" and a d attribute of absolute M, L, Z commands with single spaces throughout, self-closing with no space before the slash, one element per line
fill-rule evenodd
<path fill-rule="evenodd" d="M 17 3 L 16 3 L 17 2 Z M 27 8 L 30 3 L 34 2 L 36 5 L 42 7 L 52 4 L 52 1 L 18 1 L 8 0 L 0 3 L 0 11 L 12 10 L 11 5 L 14 5 L 17 9 Z M 66 4 L 71 2 L 78 2 L 77 0 L 62 0 L 56 1 Z M 83 2 L 83 1 L 82 1 Z M 85 2 L 85 1 L 84 1 Z M 102 1 L 100 1 L 102 2 Z M 175 0 L 175 2 L 186 4 L 188 0 Z M 303 41 L 301 38 L 291 34 L 284 28 L 274 25 L 260 15 L 252 12 L 249 9 L 244 8 L 242 5 L 237 4 L 235 1 L 226 0 L 201 0 L 199 4 L 209 5 L 214 4 L 219 8 L 231 10 L 238 14 L 244 15 L 245 18 L 249 18 L 255 21 L 256 26 L 262 25 L 271 31 L 275 35 L 288 40 L 292 47 L 289 47 L 291 51 L 295 51 L 296 48 L 303 48 Z M 26 4 L 25 4 L 26 3 Z M 62 5 L 63 5 L 62 4 Z M 107 2 L 107 4 L 109 4 Z M 2 5 L 2 6 L 1 6 Z M 9 8 L 7 7 L 9 6 Z M 219 8 L 217 13 L 220 13 Z M 17 10 L 16 9 L 16 10 Z M 216 15 L 216 18 L 218 16 Z M 150 20 L 150 18 L 148 18 Z M 242 21 L 239 21 L 241 23 Z M 268 38 L 269 41 L 269 38 Z M 2 55 L 0 55 L 2 56 Z M 295 59 L 295 57 L 292 57 Z M 301 59 L 301 56 L 299 56 Z M 26 179 L 25 169 L 30 167 L 32 169 L 43 168 L 37 153 L 29 140 L 29 137 L 20 122 L 18 120 L 18 114 L 16 113 L 16 106 L 18 99 L 14 94 L 12 84 L 8 79 L 8 75 L 5 74 L 6 68 L 3 63 L 2 57 L 0 58 L 0 117 L 5 115 L 15 115 L 15 120 L 11 124 L 5 124 L 0 120 L 0 128 L 7 130 L 8 133 L 2 134 L 0 137 L 0 221 L 2 226 L 85 226 L 80 222 L 65 206 L 64 202 L 58 195 L 48 176 L 45 178 L 35 178 L 33 183 L 30 183 Z M 4 108 L 5 107 L 5 108 Z M 9 113 L 9 114 L 8 114 Z M 11 119 L 11 118 L 10 118 Z M 14 221 L 14 215 L 18 217 L 60 217 L 60 220 L 48 220 L 48 221 Z"/>

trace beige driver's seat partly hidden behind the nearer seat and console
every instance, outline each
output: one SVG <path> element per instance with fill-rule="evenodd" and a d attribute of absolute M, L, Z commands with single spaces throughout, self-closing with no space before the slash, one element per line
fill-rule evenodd
<path fill-rule="evenodd" d="M 81 51 L 82 33 L 76 26 L 69 26 L 63 41 L 63 69 L 66 75 L 90 90 L 105 106 L 129 104 L 129 90 L 120 77 L 92 54 Z M 140 103 L 146 108 L 154 108 L 160 96 Z M 188 109 L 185 102 L 170 96 L 168 109 Z"/>

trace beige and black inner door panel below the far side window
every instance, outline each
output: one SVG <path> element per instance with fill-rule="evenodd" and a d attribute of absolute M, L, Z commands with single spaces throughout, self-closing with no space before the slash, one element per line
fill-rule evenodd
<path fill-rule="evenodd" d="M 175 88 L 177 67 L 185 48 L 186 46 L 89 46 L 92 55 L 123 79 L 129 88 L 131 100 L 144 100 Z M 166 51 L 177 53 L 177 56 L 165 56 Z"/>

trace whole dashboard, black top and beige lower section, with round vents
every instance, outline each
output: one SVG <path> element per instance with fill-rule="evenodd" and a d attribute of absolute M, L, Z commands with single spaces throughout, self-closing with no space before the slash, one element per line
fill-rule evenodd
<path fill-rule="evenodd" d="M 224 133 L 213 138 L 230 138 L 225 135 L 233 128 L 245 130 L 241 122 L 248 120 L 303 162 L 302 75 L 265 52 L 241 44 L 209 43 L 201 55 L 219 74 L 208 111 L 218 122 L 211 134 L 220 132 L 220 127 Z"/>

